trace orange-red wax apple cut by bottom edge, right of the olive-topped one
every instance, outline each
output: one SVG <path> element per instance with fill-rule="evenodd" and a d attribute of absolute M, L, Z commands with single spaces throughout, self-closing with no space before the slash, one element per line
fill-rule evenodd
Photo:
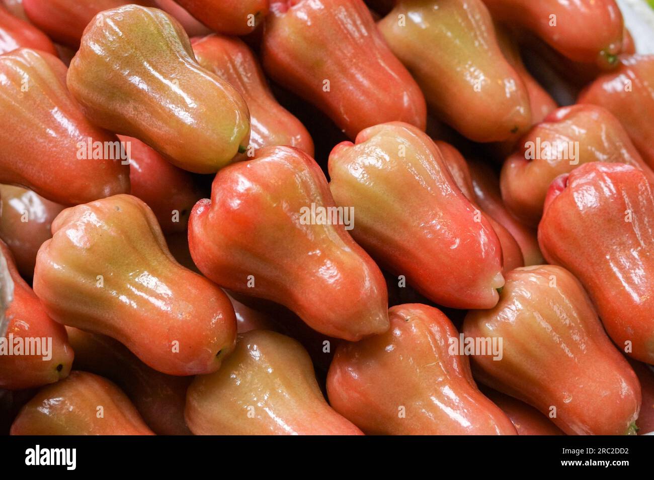
<path fill-rule="evenodd" d="M 327 376 L 337 412 L 373 435 L 516 434 L 477 389 L 468 357 L 449 352 L 458 332 L 440 310 L 405 304 L 388 316 L 387 333 L 339 345 Z"/>

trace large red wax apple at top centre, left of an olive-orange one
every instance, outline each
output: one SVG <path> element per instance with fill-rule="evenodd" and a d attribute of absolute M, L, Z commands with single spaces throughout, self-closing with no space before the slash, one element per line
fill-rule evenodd
<path fill-rule="evenodd" d="M 273 1 L 262 59 L 275 82 L 318 106 L 350 138 L 385 121 L 424 131 L 424 96 L 362 0 Z"/>

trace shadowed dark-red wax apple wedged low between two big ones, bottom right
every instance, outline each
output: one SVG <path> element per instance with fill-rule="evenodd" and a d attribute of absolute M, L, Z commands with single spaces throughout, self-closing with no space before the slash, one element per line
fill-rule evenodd
<path fill-rule="evenodd" d="M 481 392 L 506 413 L 518 435 L 565 435 L 545 415 L 525 402 L 487 387 Z"/>

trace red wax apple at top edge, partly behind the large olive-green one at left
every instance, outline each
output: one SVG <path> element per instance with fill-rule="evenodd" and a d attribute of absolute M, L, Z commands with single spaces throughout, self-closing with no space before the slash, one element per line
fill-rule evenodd
<path fill-rule="evenodd" d="M 23 0 L 27 18 L 56 42 L 77 50 L 84 28 L 96 15 L 128 3 L 154 5 L 148 0 Z"/>

